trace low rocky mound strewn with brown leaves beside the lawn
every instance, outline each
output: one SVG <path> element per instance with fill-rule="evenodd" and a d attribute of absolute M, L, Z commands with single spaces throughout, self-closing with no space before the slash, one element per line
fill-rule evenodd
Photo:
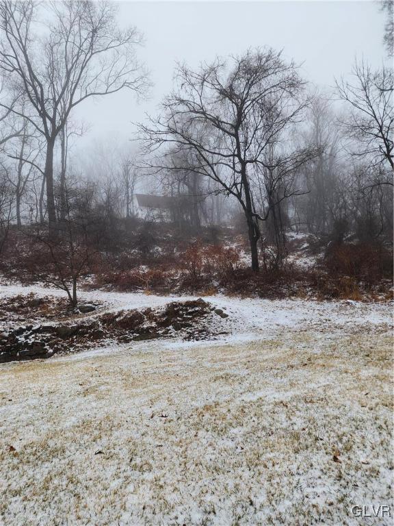
<path fill-rule="evenodd" d="M 213 338 L 221 314 L 204 301 L 174 301 L 163 308 L 121 310 L 85 318 L 73 325 L 26 325 L 0 333 L 0 362 L 49 358 L 97 346 L 99 342 L 131 342 L 181 336 Z M 215 328 L 212 328 L 215 327 Z"/>

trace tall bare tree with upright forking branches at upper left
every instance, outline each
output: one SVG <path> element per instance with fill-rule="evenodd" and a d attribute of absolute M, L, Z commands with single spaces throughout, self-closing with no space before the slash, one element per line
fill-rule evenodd
<path fill-rule="evenodd" d="M 70 112 L 89 97 L 123 88 L 140 93 L 146 74 L 134 53 L 141 36 L 135 28 L 118 29 L 114 4 L 75 0 L 47 5 L 50 21 L 38 38 L 34 23 L 39 3 L 0 3 L 0 68 L 8 84 L 27 98 L 29 110 L 3 102 L 0 107 L 27 118 L 46 140 L 44 178 L 49 230 L 53 231 L 53 152 Z"/>

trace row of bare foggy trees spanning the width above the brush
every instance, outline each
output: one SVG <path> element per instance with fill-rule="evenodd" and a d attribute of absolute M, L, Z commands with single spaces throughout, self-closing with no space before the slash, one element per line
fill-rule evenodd
<path fill-rule="evenodd" d="M 392 2 L 382 9 L 390 17 Z M 70 138 L 83 132 L 73 110 L 120 90 L 144 97 L 142 34 L 121 30 L 109 2 L 34 0 L 2 0 L 0 34 L 2 243 L 23 221 L 40 225 L 40 238 L 70 236 L 69 225 L 80 224 L 81 208 L 78 221 L 70 212 L 77 188 L 86 213 L 109 225 L 130 218 L 138 180 L 186 195 L 196 228 L 241 215 L 256 272 L 267 244 L 277 265 L 284 260 L 287 229 L 335 242 L 350 231 L 368 242 L 392 238 L 391 67 L 359 60 L 334 90 L 319 92 L 270 47 L 178 64 L 159 113 L 137 125 L 138 159 L 125 149 L 87 181 L 68 163 Z M 384 43 L 392 53 L 389 22 Z"/>

